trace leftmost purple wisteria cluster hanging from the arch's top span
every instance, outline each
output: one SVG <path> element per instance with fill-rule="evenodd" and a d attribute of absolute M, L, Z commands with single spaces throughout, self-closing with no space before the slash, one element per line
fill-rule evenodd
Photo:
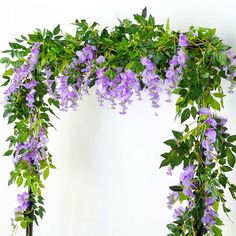
<path fill-rule="evenodd" d="M 91 83 L 90 77 L 95 69 L 95 64 L 100 65 L 105 61 L 103 55 L 97 57 L 96 53 L 97 49 L 95 46 L 86 45 L 82 50 L 77 51 L 77 57 L 72 58 L 72 62 L 66 65 L 63 75 L 59 75 L 55 81 L 51 79 L 50 73 L 47 75 L 48 92 L 55 100 L 59 101 L 60 110 L 68 111 L 69 108 L 76 110 L 78 100 L 82 99 L 83 94 L 88 94 Z M 99 77 L 98 71 L 97 78 Z M 71 77 L 74 82 L 70 82 Z M 76 78 L 74 79 L 74 77 Z M 97 81 L 96 84 L 101 82 L 101 80 Z M 54 92 L 52 91 L 53 83 L 55 83 Z M 96 93 L 98 94 L 99 92 L 97 91 Z M 121 102 L 122 104 L 125 103 L 124 101 Z"/>

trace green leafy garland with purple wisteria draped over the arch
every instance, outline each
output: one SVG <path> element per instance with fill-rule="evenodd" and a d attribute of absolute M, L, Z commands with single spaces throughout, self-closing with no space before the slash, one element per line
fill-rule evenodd
<path fill-rule="evenodd" d="M 167 197 L 169 209 L 180 203 L 174 222 L 167 225 L 168 235 L 222 235 L 219 204 L 226 214 L 230 211 L 224 189 L 228 187 L 236 199 L 236 185 L 227 177 L 235 165 L 236 135 L 227 133 L 227 119 L 215 110 L 223 107 L 222 79 L 233 91 L 236 58 L 215 30 L 170 31 L 169 22 L 166 28 L 155 24 L 146 9 L 134 19 L 136 23 L 120 21 L 110 33 L 96 30 L 96 23 L 89 26 L 76 20 L 75 36 L 61 35 L 58 25 L 53 32 L 37 30 L 21 36 L 4 51 L 10 57 L 0 61 L 8 67 L 3 75 L 3 85 L 8 86 L 3 115 L 15 123 L 5 153 L 13 155 L 15 167 L 9 184 L 26 189 L 17 195 L 13 231 L 18 223 L 28 231 L 45 212 L 42 179 L 55 168 L 47 148 L 48 128 L 53 126 L 49 114 L 55 115 L 52 107 L 76 110 L 79 100 L 95 87 L 99 104 L 119 106 L 120 114 L 126 114 L 134 96 L 142 100 L 142 91 L 155 111 L 163 91 L 167 102 L 172 94 L 179 96 L 176 109 L 181 123 L 190 117 L 194 122 L 182 132 L 172 131 L 174 138 L 164 142 L 171 148 L 162 154 L 161 167 L 167 166 L 167 174 L 183 164 L 180 181 L 170 187 Z"/>

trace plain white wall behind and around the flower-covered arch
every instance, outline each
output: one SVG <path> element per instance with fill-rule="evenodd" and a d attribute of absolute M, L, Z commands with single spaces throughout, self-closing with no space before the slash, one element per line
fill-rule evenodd
<path fill-rule="evenodd" d="M 70 23 L 76 18 L 112 27 L 116 18 L 131 18 L 145 6 L 159 23 L 170 18 L 174 29 L 186 30 L 190 25 L 217 28 L 218 35 L 236 49 L 234 0 L 8 0 L 0 3 L 0 50 L 35 28 L 52 29 L 61 23 L 64 31 L 71 32 Z M 235 95 L 227 96 L 221 113 L 229 118 L 234 133 L 235 99 Z M 146 97 L 122 116 L 108 106 L 100 108 L 93 92 L 77 112 L 60 113 L 61 120 L 54 121 L 58 131 L 50 131 L 49 145 L 57 170 L 46 183 L 47 214 L 34 235 L 167 235 L 165 225 L 172 220 L 172 212 L 166 208 L 168 185 L 178 182 L 179 173 L 168 177 L 158 166 L 160 154 L 166 150 L 162 142 L 171 137 L 171 129 L 180 127 L 174 116 L 174 102 L 163 102 L 155 117 Z M 0 131 L 0 152 L 4 153 L 4 140 L 12 129 L 2 118 Z M 17 204 L 19 190 L 7 186 L 12 168 L 10 158 L 0 158 L 1 236 L 10 235 L 9 219 Z M 236 182 L 236 175 L 231 174 L 231 179 Z M 232 220 L 236 220 L 235 202 L 230 200 L 229 206 Z M 223 235 L 235 235 L 236 226 L 225 216 L 223 219 Z"/>

